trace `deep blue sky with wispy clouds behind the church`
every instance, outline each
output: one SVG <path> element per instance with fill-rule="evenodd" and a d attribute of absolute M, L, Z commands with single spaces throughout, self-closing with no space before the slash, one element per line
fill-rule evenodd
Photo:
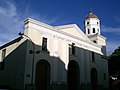
<path fill-rule="evenodd" d="M 18 37 L 25 18 L 53 26 L 77 24 L 84 31 L 90 7 L 101 21 L 107 52 L 120 46 L 120 0 L 0 0 L 0 45 Z"/>

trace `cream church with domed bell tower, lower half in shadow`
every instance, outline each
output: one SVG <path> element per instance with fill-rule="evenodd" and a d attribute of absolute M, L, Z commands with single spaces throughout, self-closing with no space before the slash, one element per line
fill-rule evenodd
<path fill-rule="evenodd" d="M 90 12 L 76 24 L 51 26 L 27 18 L 20 37 L 0 46 L 0 88 L 107 90 L 106 37 Z"/>

